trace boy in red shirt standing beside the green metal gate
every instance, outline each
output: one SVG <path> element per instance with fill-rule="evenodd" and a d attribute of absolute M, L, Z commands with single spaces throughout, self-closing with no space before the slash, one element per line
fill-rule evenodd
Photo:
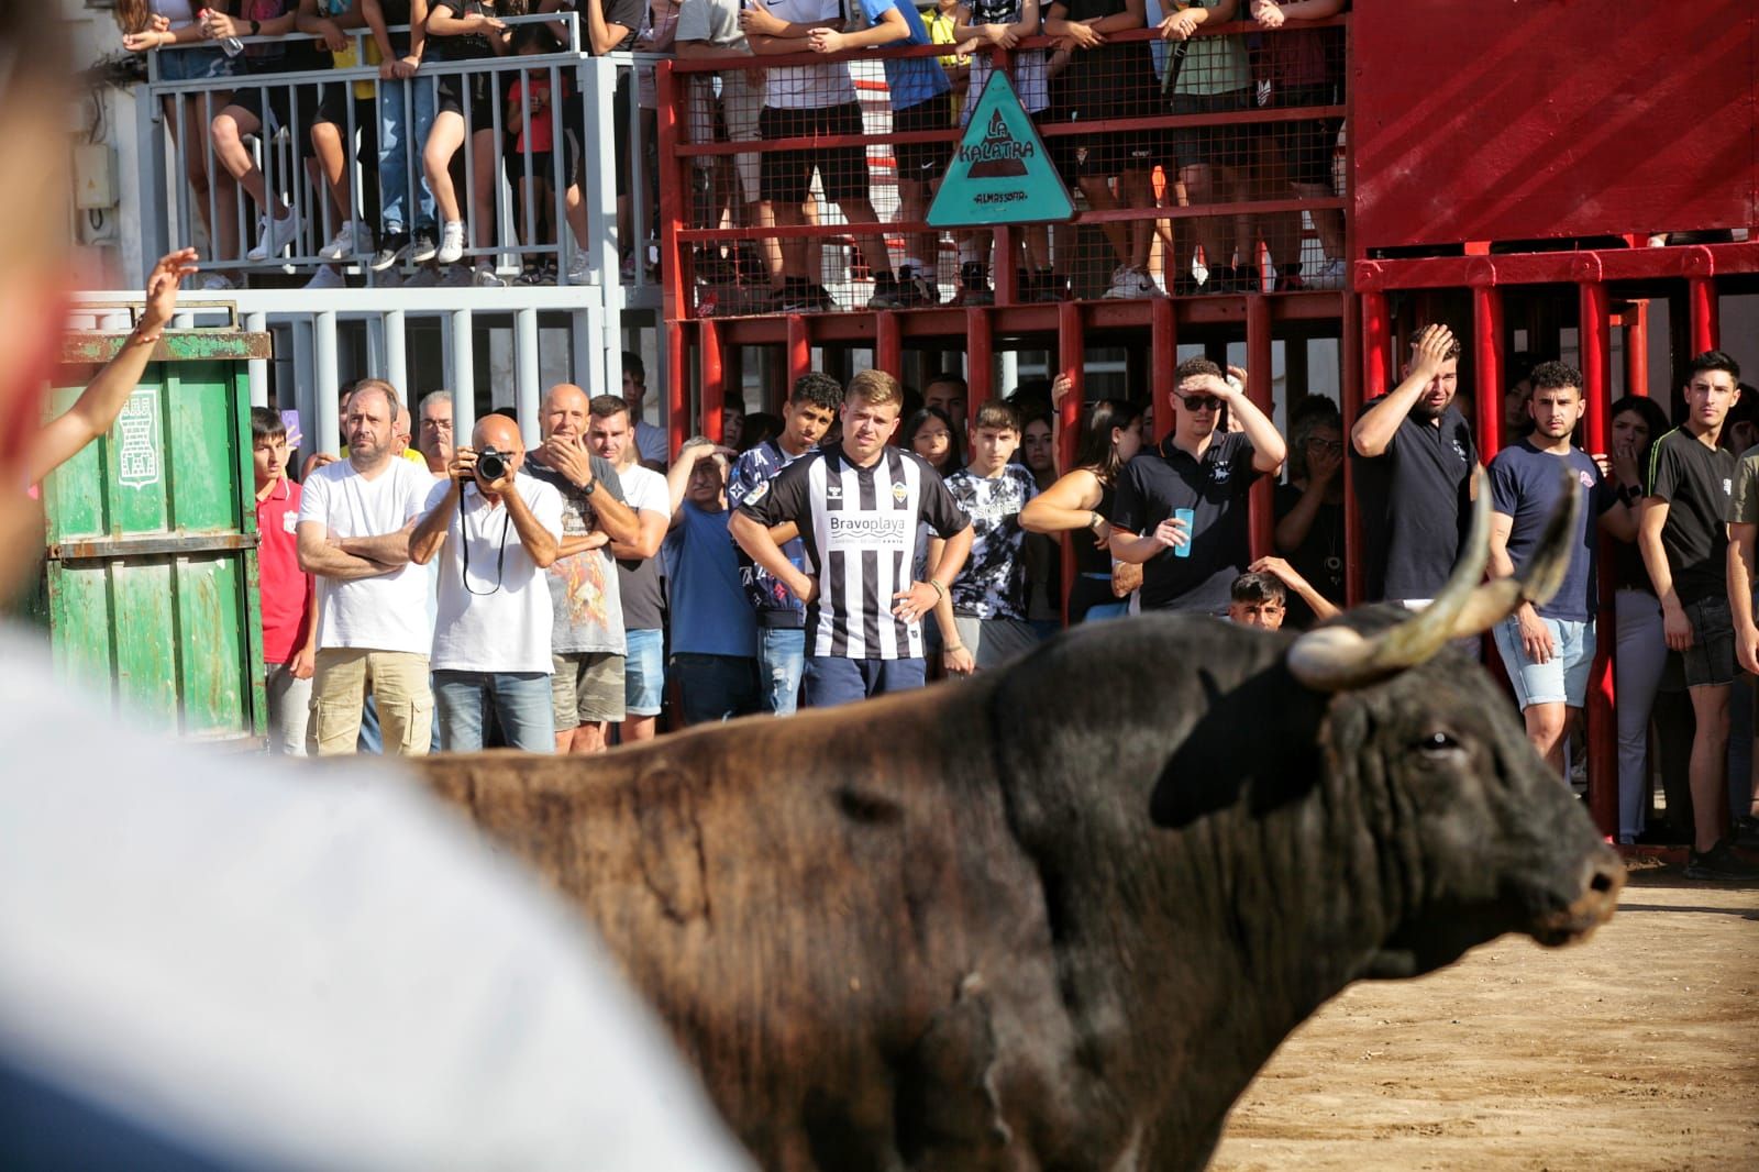
<path fill-rule="evenodd" d="M 311 660 L 318 625 L 311 575 L 299 568 L 299 486 L 287 479 L 287 424 L 267 407 L 250 408 L 250 456 L 257 473 L 257 574 L 262 581 L 262 662 L 267 667 L 269 751 L 304 755 L 311 709 Z"/>

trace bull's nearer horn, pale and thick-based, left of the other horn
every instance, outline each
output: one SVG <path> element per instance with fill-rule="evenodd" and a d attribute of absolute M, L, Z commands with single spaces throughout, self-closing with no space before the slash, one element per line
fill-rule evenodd
<path fill-rule="evenodd" d="M 1490 487 L 1472 473 L 1472 533 L 1453 577 L 1427 607 L 1404 623 L 1365 637 L 1349 626 L 1321 626 L 1289 648 L 1289 672 L 1319 692 L 1347 692 L 1423 663 L 1455 637 L 1490 563 Z"/>

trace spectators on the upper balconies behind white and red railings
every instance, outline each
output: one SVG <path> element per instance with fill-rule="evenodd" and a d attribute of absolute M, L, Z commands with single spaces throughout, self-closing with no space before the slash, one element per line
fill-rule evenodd
<path fill-rule="evenodd" d="M 901 0 L 216 0 L 192 9 L 190 0 L 121 0 L 116 16 L 123 44 L 153 53 L 162 81 L 201 83 L 160 99 L 183 157 L 188 206 L 211 260 L 225 262 L 204 269 L 206 289 L 232 287 L 252 266 L 266 271 L 288 260 L 310 266 L 315 289 L 345 285 L 350 267 L 371 269 L 380 283 L 551 283 L 570 255 L 568 280 L 580 282 L 589 273 L 584 185 L 602 165 L 616 174 L 616 239 L 624 276 L 633 278 L 649 264 L 658 222 L 654 70 L 635 63 L 619 70 L 610 150 L 600 150 L 584 121 L 575 58 L 563 53 L 575 39 L 586 55 L 726 62 L 714 74 L 682 76 L 691 141 L 851 136 L 813 150 L 693 160 L 693 225 L 781 229 L 779 238 L 702 246 L 693 257 L 702 282 L 744 285 L 748 311 L 939 304 L 943 248 L 957 252 L 957 276 L 950 271 L 946 280 L 957 304 L 990 303 L 999 266 L 1015 267 L 1025 301 L 1101 292 L 1077 280 L 1078 253 L 1091 245 L 1073 227 L 1027 227 L 1015 257 L 989 257 L 990 234 L 980 231 L 948 239 L 908 232 L 894 255 L 881 231 L 880 171 L 858 137 L 948 136 L 888 148 L 895 197 L 888 209 L 895 204 L 899 223 L 922 223 L 953 157 L 953 132 L 969 121 L 997 55 L 1041 127 L 1105 123 L 1101 132 L 1048 139 L 1069 190 L 1092 211 L 1145 213 L 1098 225 L 1115 253 L 1103 296 L 1263 289 L 1261 255 L 1275 269 L 1275 289 L 1340 287 L 1335 209 L 1310 213 L 1323 252 L 1317 267 L 1303 267 L 1300 213 L 1152 215 L 1332 197 L 1339 120 L 1179 128 L 1129 121 L 1117 128 L 1117 120 L 1333 106 L 1342 30 L 1300 25 L 1326 21 L 1347 0 L 1161 7 L 974 0 L 918 12 Z M 575 18 L 572 30 L 565 16 Z M 1205 25 L 1238 21 L 1256 32 L 1203 33 Z M 1038 39 L 1034 48 L 1020 48 L 1025 37 Z M 1054 48 L 1038 48 L 1047 37 Z M 955 51 L 883 55 L 888 109 L 864 118 L 848 56 L 934 44 Z M 777 55 L 839 56 L 762 65 Z M 522 69 L 503 60 L 510 56 L 533 63 Z M 373 67 L 376 77 L 359 76 Z M 322 79 L 336 69 L 357 76 Z M 278 155 L 271 143 L 283 134 Z M 287 162 L 269 165 L 271 157 Z M 823 223 L 832 206 L 848 225 L 836 241 L 848 246 L 848 271 L 871 282 L 858 296 L 848 283 L 841 299 L 825 289 L 825 239 L 788 232 Z M 1189 239 L 1186 225 L 1194 229 Z M 517 257 L 519 267 L 503 266 L 503 257 Z"/>

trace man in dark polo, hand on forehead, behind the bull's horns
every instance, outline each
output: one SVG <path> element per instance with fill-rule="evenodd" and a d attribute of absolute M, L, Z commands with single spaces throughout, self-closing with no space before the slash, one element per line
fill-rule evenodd
<path fill-rule="evenodd" d="M 1460 340 L 1425 326 L 1405 378 L 1369 403 L 1349 433 L 1361 458 L 1356 491 L 1369 547 L 1369 598 L 1434 598 L 1460 556 L 1472 516 L 1478 445 L 1453 405 Z"/>

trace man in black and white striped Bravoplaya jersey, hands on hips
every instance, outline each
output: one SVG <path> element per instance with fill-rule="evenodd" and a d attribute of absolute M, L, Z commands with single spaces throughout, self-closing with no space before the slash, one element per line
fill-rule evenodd
<path fill-rule="evenodd" d="M 792 463 L 746 496 L 730 530 L 751 560 L 806 602 L 806 702 L 848 704 L 920 688 L 922 619 L 971 553 L 971 519 L 920 456 L 887 440 L 904 392 L 867 370 L 843 401 L 843 442 Z M 920 524 L 946 538 L 929 581 L 915 582 Z M 776 544 L 797 526 L 806 568 Z"/>

